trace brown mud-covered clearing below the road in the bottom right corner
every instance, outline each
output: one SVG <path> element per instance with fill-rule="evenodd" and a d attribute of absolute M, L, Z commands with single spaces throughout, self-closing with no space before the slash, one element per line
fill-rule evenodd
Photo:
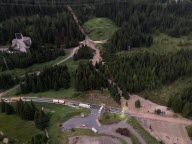
<path fill-rule="evenodd" d="M 138 121 L 153 137 L 162 140 L 166 144 L 192 144 L 192 141 L 188 137 L 185 124 L 147 118 L 138 118 Z"/>

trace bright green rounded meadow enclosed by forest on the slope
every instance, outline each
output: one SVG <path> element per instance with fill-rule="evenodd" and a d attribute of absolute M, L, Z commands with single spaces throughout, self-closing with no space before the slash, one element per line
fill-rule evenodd
<path fill-rule="evenodd" d="M 93 18 L 83 24 L 83 28 L 92 40 L 110 39 L 117 26 L 108 18 Z"/>

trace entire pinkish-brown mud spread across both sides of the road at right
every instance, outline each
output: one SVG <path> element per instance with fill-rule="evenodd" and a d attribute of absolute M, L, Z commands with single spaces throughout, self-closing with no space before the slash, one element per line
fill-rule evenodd
<path fill-rule="evenodd" d="M 138 99 L 141 102 L 141 108 L 135 107 L 135 101 Z M 126 107 L 125 103 L 126 100 L 122 99 L 123 107 Z M 135 116 L 145 130 L 156 139 L 166 144 L 192 144 L 185 128 L 192 124 L 192 120 L 183 118 L 179 114 L 175 118 L 174 112 L 167 110 L 166 106 L 160 106 L 137 95 L 131 95 L 127 103 L 126 112 Z M 155 109 L 165 111 L 166 115 L 154 114 Z"/>

